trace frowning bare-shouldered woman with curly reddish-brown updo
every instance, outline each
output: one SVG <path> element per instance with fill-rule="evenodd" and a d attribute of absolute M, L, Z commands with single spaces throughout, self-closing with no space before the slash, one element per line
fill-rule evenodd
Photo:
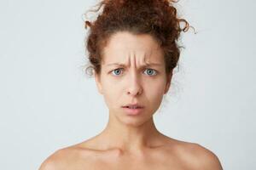
<path fill-rule="evenodd" d="M 107 127 L 80 144 L 55 151 L 40 170 L 207 169 L 221 170 L 218 157 L 200 144 L 172 139 L 154 126 L 153 115 L 177 66 L 181 31 L 174 2 L 102 1 L 90 26 L 89 59 L 96 86 L 109 109 Z M 98 9 L 99 9 L 98 8 Z M 186 25 L 182 29 L 180 22 Z"/>

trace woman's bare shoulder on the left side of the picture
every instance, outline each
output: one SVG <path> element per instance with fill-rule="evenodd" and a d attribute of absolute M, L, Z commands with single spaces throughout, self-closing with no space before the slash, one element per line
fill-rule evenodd
<path fill-rule="evenodd" d="M 39 170 L 66 170 L 79 168 L 80 162 L 88 160 L 89 151 L 79 148 L 77 145 L 69 146 L 56 150 L 52 155 L 46 158 L 39 167 Z"/>

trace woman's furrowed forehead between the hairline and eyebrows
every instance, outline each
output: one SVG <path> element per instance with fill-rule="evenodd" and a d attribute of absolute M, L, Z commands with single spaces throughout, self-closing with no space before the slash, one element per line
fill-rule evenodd
<path fill-rule="evenodd" d="M 122 31 L 113 34 L 102 50 L 102 64 L 113 61 L 137 60 L 162 63 L 163 54 L 159 43 L 148 34 L 134 35 Z"/>

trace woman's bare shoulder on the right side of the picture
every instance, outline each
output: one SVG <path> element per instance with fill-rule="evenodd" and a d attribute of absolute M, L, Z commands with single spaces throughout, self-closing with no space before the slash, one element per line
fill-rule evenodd
<path fill-rule="evenodd" d="M 177 150 L 189 169 L 223 170 L 218 156 L 201 144 L 179 141 Z"/>

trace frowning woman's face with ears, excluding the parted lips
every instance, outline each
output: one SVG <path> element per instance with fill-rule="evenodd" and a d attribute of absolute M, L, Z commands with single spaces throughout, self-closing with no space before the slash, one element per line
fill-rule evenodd
<path fill-rule="evenodd" d="M 142 124 L 153 116 L 167 93 L 172 74 L 166 76 L 159 44 L 148 34 L 119 31 L 102 51 L 102 71 L 96 85 L 108 105 L 109 114 L 126 124 Z M 127 114 L 125 105 L 142 105 L 140 114 Z"/>

